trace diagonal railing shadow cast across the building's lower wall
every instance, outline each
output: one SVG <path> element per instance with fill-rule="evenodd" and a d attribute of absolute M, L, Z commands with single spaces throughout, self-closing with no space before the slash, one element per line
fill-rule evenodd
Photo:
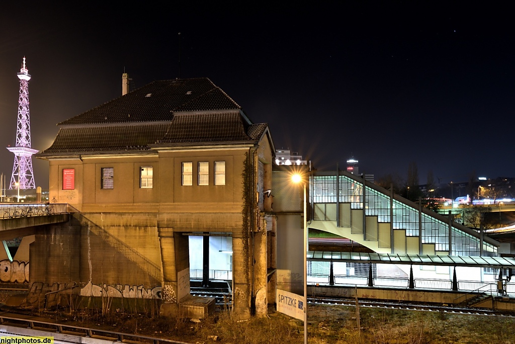
<path fill-rule="evenodd" d="M 118 239 L 117 237 L 106 231 L 104 228 L 98 226 L 95 222 L 85 217 L 77 209 L 71 206 L 70 208 L 72 210 L 72 216 L 79 221 L 82 228 L 87 228 L 88 231 L 100 237 L 102 240 L 104 240 L 105 243 L 107 243 L 117 252 L 124 255 L 129 261 L 138 265 L 144 271 L 147 271 L 151 277 L 153 277 L 157 281 L 162 281 L 163 278 L 160 266 L 151 262 L 143 254 L 134 250 L 132 247 L 122 242 L 122 240 Z"/>

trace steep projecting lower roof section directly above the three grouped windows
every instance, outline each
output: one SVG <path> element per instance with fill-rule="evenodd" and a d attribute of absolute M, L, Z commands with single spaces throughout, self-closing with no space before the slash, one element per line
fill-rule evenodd
<path fill-rule="evenodd" d="M 157 143 L 250 141 L 239 112 L 176 114 Z"/>

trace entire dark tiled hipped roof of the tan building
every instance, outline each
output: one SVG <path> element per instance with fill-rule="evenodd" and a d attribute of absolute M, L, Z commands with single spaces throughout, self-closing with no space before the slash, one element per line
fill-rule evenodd
<path fill-rule="evenodd" d="M 40 157 L 145 151 L 174 144 L 259 141 L 267 124 L 251 124 L 208 78 L 152 82 L 59 123 Z"/>

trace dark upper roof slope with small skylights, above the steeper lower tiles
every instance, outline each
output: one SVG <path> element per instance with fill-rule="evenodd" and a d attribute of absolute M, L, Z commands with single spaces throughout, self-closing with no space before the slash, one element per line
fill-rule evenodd
<path fill-rule="evenodd" d="M 208 78 L 151 82 L 59 125 L 171 121 L 173 112 L 239 110 Z"/>

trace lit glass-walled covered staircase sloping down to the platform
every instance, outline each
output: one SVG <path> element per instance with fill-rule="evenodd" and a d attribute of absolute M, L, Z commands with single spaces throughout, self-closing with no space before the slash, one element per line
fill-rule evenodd
<path fill-rule="evenodd" d="M 497 255 L 500 243 L 347 171 L 310 176 L 307 227 L 378 253 Z"/>

